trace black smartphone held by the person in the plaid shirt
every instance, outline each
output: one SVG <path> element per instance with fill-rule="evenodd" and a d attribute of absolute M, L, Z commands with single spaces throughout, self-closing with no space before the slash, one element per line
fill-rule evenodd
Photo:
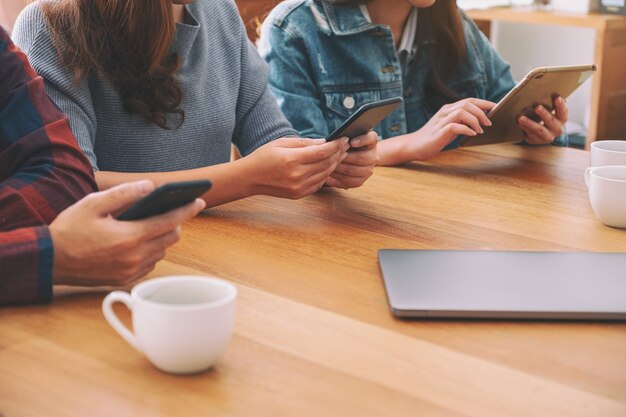
<path fill-rule="evenodd" d="M 117 220 L 141 220 L 191 203 L 211 189 L 211 181 L 185 181 L 164 184 L 133 204 Z"/>

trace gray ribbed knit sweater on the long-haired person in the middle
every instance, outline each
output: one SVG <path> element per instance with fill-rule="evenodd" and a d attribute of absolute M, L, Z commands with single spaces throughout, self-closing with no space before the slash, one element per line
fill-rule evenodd
<path fill-rule="evenodd" d="M 130 0 L 134 1 L 134 0 Z M 232 0 L 186 6 L 195 24 L 177 24 L 183 125 L 165 130 L 124 110 L 110 83 L 91 76 L 79 84 L 61 66 L 37 3 L 19 16 L 13 36 L 48 94 L 70 117 L 78 144 L 94 169 L 156 172 L 199 168 L 243 155 L 279 137 L 296 135 L 267 88 L 267 70 L 249 42 Z M 120 65 L 124 65 L 120 62 Z"/>

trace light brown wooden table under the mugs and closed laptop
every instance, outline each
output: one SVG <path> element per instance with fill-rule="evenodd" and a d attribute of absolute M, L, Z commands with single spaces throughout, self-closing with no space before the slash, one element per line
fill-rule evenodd
<path fill-rule="evenodd" d="M 237 284 L 212 371 L 159 372 L 105 322 L 106 291 L 61 289 L 0 310 L 0 414 L 624 417 L 626 324 L 395 320 L 376 261 L 379 248 L 624 251 L 626 230 L 589 206 L 587 158 L 468 148 L 357 190 L 211 209 L 151 276 Z"/>

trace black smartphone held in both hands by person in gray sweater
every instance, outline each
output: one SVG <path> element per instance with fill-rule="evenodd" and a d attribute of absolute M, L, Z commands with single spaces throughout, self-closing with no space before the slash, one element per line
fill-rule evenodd
<path fill-rule="evenodd" d="M 352 139 L 364 135 L 387 117 L 389 113 L 394 111 L 401 103 L 402 97 L 394 97 L 364 104 L 348 117 L 341 126 L 328 135 L 326 140 L 331 141 L 344 136 Z"/>

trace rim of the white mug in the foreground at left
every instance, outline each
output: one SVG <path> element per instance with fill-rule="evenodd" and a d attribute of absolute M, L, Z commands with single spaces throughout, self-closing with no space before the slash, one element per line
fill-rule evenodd
<path fill-rule="evenodd" d="M 193 303 L 193 304 L 170 304 L 170 303 L 162 303 L 158 301 L 150 300 L 150 293 L 145 294 L 151 287 L 155 287 L 155 289 L 160 288 L 163 283 L 167 282 L 199 282 L 201 284 L 211 283 L 214 286 L 219 286 L 225 290 L 225 295 L 223 297 L 218 298 L 214 301 Z M 206 276 L 206 275 L 170 275 L 163 276 L 158 278 L 148 279 L 146 281 L 140 282 L 135 285 L 130 291 L 130 296 L 136 302 L 140 302 L 142 304 L 149 305 L 153 308 L 159 308 L 163 310 L 198 310 L 203 308 L 216 308 L 226 304 L 231 303 L 237 297 L 237 287 L 235 287 L 232 283 L 216 277 Z"/>

